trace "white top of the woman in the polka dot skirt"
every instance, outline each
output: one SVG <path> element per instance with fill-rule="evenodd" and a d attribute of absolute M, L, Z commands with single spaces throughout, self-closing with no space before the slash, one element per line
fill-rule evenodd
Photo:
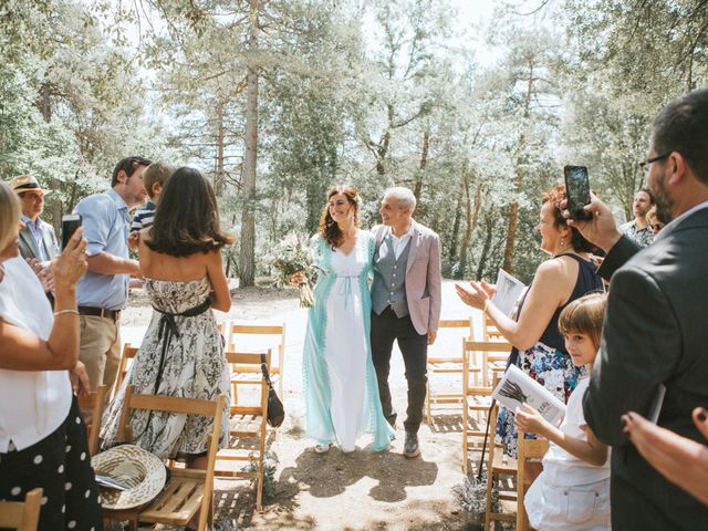
<path fill-rule="evenodd" d="M 21 257 L 3 266 L 0 319 L 46 341 L 53 315 L 42 284 Z M 67 371 L 0 368 L 0 451 L 8 451 L 10 440 L 23 450 L 52 434 L 69 415 L 71 400 Z"/>

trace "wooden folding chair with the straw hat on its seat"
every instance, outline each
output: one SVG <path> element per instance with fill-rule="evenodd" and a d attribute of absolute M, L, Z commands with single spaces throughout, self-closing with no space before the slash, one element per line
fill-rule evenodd
<path fill-rule="evenodd" d="M 169 412 L 186 415 L 205 415 L 214 418 L 214 429 L 209 436 L 207 469 L 169 468 L 169 480 L 163 492 L 147 507 L 137 510 L 113 511 L 104 509 L 104 518 L 128 520 L 132 529 L 138 522 L 187 525 L 199 513 L 198 531 L 207 529 L 207 521 L 214 524 L 211 500 L 214 496 L 214 467 L 221 435 L 221 416 L 226 407 L 226 397 L 219 395 L 216 400 L 178 398 L 162 395 L 134 395 L 133 386 L 125 392 L 125 402 L 118 424 L 118 441 L 131 442 L 132 426 L 128 421 L 135 409 Z"/>

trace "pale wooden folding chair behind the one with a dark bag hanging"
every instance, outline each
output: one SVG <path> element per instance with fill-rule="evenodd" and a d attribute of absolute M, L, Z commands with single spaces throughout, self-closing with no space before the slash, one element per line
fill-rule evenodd
<path fill-rule="evenodd" d="M 231 323 L 227 351 L 231 352 L 261 352 L 271 348 L 278 352 L 278 364 L 270 369 L 273 385 L 278 384 L 278 396 L 283 399 L 283 356 L 285 354 L 285 323 L 282 324 L 243 324 Z M 248 383 L 248 382 L 247 382 Z M 238 392 L 235 385 L 235 394 Z"/>

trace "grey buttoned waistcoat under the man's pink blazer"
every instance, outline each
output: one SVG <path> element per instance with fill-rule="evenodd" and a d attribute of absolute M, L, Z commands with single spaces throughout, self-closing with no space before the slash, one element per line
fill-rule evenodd
<path fill-rule="evenodd" d="M 386 235 L 374 256 L 374 283 L 372 284 L 372 308 L 381 315 L 386 306 L 391 306 L 397 317 L 408 315 L 406 300 L 406 264 L 410 242 L 406 243 L 398 259 L 394 252 L 391 233 Z"/>

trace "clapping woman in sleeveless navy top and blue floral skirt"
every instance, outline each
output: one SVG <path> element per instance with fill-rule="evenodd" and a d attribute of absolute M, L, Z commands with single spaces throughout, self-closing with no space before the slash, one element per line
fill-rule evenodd
<path fill-rule="evenodd" d="M 541 249 L 551 258 L 537 269 L 533 281 L 521 299 L 516 320 L 504 315 L 491 302 L 493 288 L 485 282 L 471 282 L 471 291 L 458 285 L 457 292 L 465 303 L 483 310 L 513 345 L 510 363 L 518 365 L 565 403 L 584 369 L 575 367 L 565 351 L 563 336 L 558 330 L 558 317 L 570 302 L 586 293 L 601 291 L 603 284 L 590 260 L 594 247 L 577 229 L 569 227 L 561 214 L 563 199 L 564 186 L 556 186 L 543 194 L 537 230 L 541 233 Z M 513 412 L 500 409 L 497 436 L 506 445 L 506 452 L 516 458 Z"/>

